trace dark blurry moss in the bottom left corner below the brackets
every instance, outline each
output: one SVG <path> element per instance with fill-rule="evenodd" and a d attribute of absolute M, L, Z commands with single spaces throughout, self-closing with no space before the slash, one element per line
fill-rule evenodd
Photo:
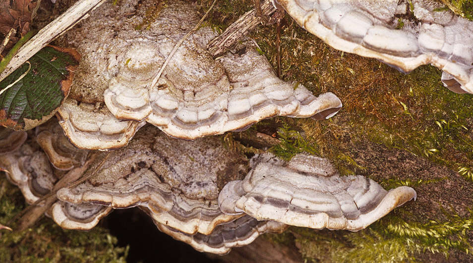
<path fill-rule="evenodd" d="M 20 190 L 0 174 L 0 222 L 24 208 Z M 128 248 L 101 227 L 87 232 L 61 229 L 45 218 L 18 232 L 0 230 L 0 262 L 125 262 Z"/>

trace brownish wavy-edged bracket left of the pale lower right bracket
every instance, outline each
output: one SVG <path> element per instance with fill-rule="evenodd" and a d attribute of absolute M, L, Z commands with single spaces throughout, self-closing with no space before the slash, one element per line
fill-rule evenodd
<path fill-rule="evenodd" d="M 148 126 L 127 147 L 111 152 L 93 178 L 57 196 L 73 204 L 143 206 L 154 220 L 179 231 L 210 234 L 240 217 L 222 213 L 217 197 L 219 188 L 246 174 L 246 165 L 218 137 L 188 142 Z"/>

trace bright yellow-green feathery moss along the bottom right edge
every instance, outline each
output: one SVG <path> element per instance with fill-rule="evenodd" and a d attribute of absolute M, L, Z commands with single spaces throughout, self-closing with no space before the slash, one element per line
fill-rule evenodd
<path fill-rule="evenodd" d="M 390 216 L 359 232 L 331 232 L 294 228 L 296 243 L 307 261 L 319 262 L 404 262 L 417 261 L 420 253 L 453 250 L 469 253 L 468 231 L 473 216 L 453 216 L 449 221 L 408 223 Z"/>

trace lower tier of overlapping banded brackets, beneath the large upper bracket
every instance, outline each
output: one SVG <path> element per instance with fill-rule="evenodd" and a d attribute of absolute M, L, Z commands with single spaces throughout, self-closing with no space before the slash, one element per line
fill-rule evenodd
<path fill-rule="evenodd" d="M 0 168 L 28 203 L 54 193 L 44 212 L 61 227 L 91 229 L 114 209 L 138 207 L 162 232 L 215 254 L 289 225 L 356 231 L 415 199 L 410 187 L 388 192 L 365 177 L 340 176 L 327 159 L 248 160 L 221 137 L 183 141 L 151 125 L 110 152 L 75 148 L 53 120 L 25 143 L 15 138 Z"/>

